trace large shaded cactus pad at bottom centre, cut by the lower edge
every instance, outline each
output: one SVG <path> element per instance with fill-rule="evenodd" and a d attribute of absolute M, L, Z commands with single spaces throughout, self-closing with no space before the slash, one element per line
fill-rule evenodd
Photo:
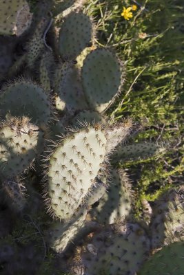
<path fill-rule="evenodd" d="M 149 250 L 150 241 L 138 224 L 110 225 L 83 245 L 72 274 L 81 267 L 85 275 L 134 275 Z"/>

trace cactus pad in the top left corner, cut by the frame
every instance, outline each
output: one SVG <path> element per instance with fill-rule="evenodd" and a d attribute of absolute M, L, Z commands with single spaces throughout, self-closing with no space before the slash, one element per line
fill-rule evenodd
<path fill-rule="evenodd" d="M 21 35 L 32 21 L 28 2 L 25 0 L 1 1 L 0 34 Z"/>

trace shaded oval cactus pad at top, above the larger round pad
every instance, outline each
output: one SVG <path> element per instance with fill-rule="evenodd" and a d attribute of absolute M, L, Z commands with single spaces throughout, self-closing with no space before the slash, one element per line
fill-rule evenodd
<path fill-rule="evenodd" d="M 82 12 L 71 12 L 59 32 L 59 54 L 64 59 L 75 59 L 91 42 L 92 21 Z"/>

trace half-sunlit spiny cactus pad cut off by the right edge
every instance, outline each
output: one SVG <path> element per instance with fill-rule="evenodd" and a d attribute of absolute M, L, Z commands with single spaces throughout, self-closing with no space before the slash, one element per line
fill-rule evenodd
<path fill-rule="evenodd" d="M 152 208 L 152 248 L 184 241 L 184 186 L 165 192 Z"/>

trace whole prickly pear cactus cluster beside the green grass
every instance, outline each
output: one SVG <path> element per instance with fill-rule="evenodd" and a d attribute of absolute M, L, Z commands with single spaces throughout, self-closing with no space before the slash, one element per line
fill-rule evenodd
<path fill-rule="evenodd" d="M 134 218 L 136 193 L 116 165 L 165 147 L 125 146 L 138 127 L 108 119 L 123 63 L 95 45 L 83 1 L 45 0 L 35 14 L 27 1 L 1 2 L 0 39 L 24 47 L 0 56 L 0 271 L 134 275 L 153 254 L 140 272 L 160 272 L 161 259 L 183 253 L 184 191 L 156 201 L 150 223 Z"/>

